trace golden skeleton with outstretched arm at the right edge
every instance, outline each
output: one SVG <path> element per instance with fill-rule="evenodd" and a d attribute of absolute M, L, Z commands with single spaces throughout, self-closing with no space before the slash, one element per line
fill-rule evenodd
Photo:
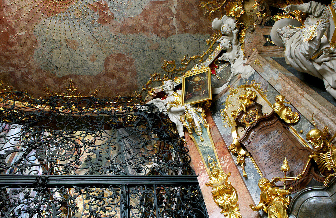
<path fill-rule="evenodd" d="M 336 136 L 328 140 L 329 128 L 326 126 L 323 131 L 316 127 L 314 122 L 314 117 L 312 116 L 314 127 L 309 130 L 306 138 L 308 143 L 315 149 L 312 155 L 309 155 L 306 162 L 305 168 L 296 177 L 284 177 L 279 178 L 280 181 L 290 181 L 301 179 L 302 176 L 307 172 L 308 164 L 311 160 L 314 160 L 321 175 L 325 176 L 325 181 L 323 184 L 328 187 L 330 180 L 336 176 L 336 147 L 330 143 Z"/>

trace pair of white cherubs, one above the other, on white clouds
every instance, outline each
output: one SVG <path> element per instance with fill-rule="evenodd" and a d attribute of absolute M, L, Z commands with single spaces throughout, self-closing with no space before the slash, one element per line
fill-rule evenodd
<path fill-rule="evenodd" d="M 243 78 L 250 77 L 255 71 L 251 66 L 245 65 L 247 58 L 244 59 L 244 54 L 238 41 L 239 28 L 236 26 L 235 19 L 226 15 L 221 19 L 216 17 L 212 21 L 212 28 L 222 33 L 223 36 L 217 42 L 223 50 L 226 50 L 218 60 L 229 61 L 233 75 L 241 74 Z M 221 88 L 224 89 L 226 87 Z"/>

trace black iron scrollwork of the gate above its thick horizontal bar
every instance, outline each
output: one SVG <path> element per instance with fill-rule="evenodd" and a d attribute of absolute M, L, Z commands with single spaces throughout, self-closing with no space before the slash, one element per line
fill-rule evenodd
<path fill-rule="evenodd" d="M 151 112 L 152 105 L 141 109 L 140 99 L 41 100 L 15 92 L 0 100 L 0 120 L 6 124 L 0 174 L 194 173 L 166 115 Z"/>

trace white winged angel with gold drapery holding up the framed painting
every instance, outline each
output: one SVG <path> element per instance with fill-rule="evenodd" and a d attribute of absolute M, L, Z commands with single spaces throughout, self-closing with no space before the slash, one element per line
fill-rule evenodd
<path fill-rule="evenodd" d="M 174 91 L 175 86 L 174 81 L 166 80 L 162 89 L 168 95 L 167 98 L 165 100 L 153 99 L 147 104 L 156 105 L 161 112 L 167 111 L 169 119 L 176 124 L 180 137 L 183 137 L 183 126 L 187 124 L 190 129 L 194 128 L 198 135 L 202 134 L 201 124 L 204 123 L 202 116 L 200 116 L 200 113 L 203 112 L 202 108 L 190 104 L 181 105 L 182 91 Z"/>

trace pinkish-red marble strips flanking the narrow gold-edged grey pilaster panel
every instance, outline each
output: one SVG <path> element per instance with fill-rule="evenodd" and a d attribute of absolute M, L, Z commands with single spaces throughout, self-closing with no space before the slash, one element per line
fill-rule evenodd
<path fill-rule="evenodd" d="M 243 182 L 242 176 L 238 172 L 238 168 L 235 164 L 235 161 L 232 159 L 230 152 L 227 149 L 227 146 L 225 145 L 225 142 L 223 141 L 220 132 L 218 131 L 210 113 L 206 114 L 206 120 L 209 123 L 210 133 L 215 144 L 220 164 L 224 172 L 231 172 L 231 176 L 229 177 L 228 181 L 231 182 L 231 184 L 237 190 L 239 209 L 242 217 L 243 218 L 259 217 L 259 214 L 257 212 L 252 211 L 249 208 L 249 205 L 253 204 L 252 198 L 249 195 L 249 192 Z M 196 174 L 199 175 L 198 181 L 200 183 L 200 187 L 209 213 L 209 217 L 210 218 L 224 217 L 222 214 L 220 214 L 221 209 L 216 205 L 216 203 L 212 199 L 211 194 L 212 188 L 205 186 L 205 183 L 209 180 L 209 176 L 203 165 L 200 154 L 198 153 L 194 142 L 187 133 L 185 134 L 185 139 L 187 142 L 187 147 L 189 149 L 189 154 L 192 159 L 192 164 L 194 166 Z"/>

